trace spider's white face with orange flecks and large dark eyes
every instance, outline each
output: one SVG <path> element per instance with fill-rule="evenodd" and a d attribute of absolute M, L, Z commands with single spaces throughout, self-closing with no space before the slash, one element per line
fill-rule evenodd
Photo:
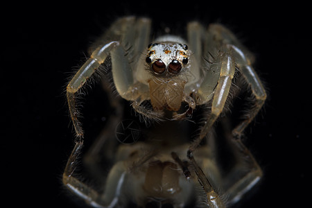
<path fill-rule="evenodd" d="M 180 73 L 181 69 L 189 62 L 189 53 L 186 44 L 163 42 L 148 46 L 146 63 L 150 71 L 166 76 Z"/>

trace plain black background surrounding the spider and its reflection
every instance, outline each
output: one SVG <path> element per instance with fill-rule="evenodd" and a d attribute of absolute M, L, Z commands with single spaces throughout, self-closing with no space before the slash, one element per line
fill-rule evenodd
<path fill-rule="evenodd" d="M 61 184 L 73 146 L 64 89 L 88 46 L 123 15 L 147 16 L 160 26 L 184 27 L 190 20 L 220 22 L 238 35 L 257 56 L 255 68 L 268 88 L 263 116 L 258 116 L 250 134 L 252 153 L 265 175 L 257 192 L 241 206 L 300 207 L 308 202 L 309 6 L 260 2 L 85 1 L 66 5 L 45 1 L 3 7 L 7 15 L 2 12 L 1 17 L 2 202 L 32 207 L 76 206 Z M 90 99 L 86 98 L 86 107 L 98 107 L 101 116 L 107 114 L 105 107 Z M 95 110 L 85 115 L 84 122 L 87 132 L 105 124 Z"/>

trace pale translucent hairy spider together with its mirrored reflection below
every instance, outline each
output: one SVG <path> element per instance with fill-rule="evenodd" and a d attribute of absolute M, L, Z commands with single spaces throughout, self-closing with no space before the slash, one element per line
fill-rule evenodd
<path fill-rule="evenodd" d="M 150 35 L 148 18 L 117 19 L 69 82 L 67 100 L 76 140 L 63 174 L 65 187 L 93 207 L 225 207 L 238 202 L 262 176 L 241 141 L 243 130 L 266 100 L 265 89 L 252 68 L 254 56 L 220 24 L 205 29 L 198 21 L 189 22 L 187 41 L 167 34 L 150 43 Z M 111 137 L 121 115 L 112 116 L 107 130 L 86 156 L 92 168 L 99 154 L 112 161 L 99 191 L 76 176 L 84 143 L 76 95 L 105 60 L 111 62 L 112 83 L 119 94 L 111 103 L 130 101 L 135 112 L 158 122 L 144 141 L 114 146 L 112 140 L 116 139 Z M 244 80 L 248 87 L 235 80 Z M 233 130 L 227 119 L 220 119 L 234 158 L 225 174 L 214 156 L 219 137 L 212 132 L 220 114 L 229 108 L 229 94 L 235 97 L 239 93 L 232 90 L 234 86 L 251 89 L 254 105 Z M 202 106 L 208 114 L 196 139 L 189 143 L 184 126 Z"/>

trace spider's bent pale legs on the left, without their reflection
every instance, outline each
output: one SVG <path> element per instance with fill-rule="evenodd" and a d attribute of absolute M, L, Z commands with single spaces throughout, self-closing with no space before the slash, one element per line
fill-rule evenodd
<path fill-rule="evenodd" d="M 76 108 L 76 93 L 85 85 L 87 79 L 94 74 L 96 69 L 105 62 L 108 55 L 111 57 L 112 76 L 119 95 L 127 100 L 136 96 L 133 94 L 132 89 L 134 79 L 132 76 L 133 66 L 130 60 L 134 56 L 132 54 L 139 53 L 138 51 L 143 50 L 142 45 L 148 42 L 149 27 L 150 21 L 146 18 L 137 21 L 135 17 L 118 19 L 102 37 L 105 42 L 101 42 L 93 51 L 89 60 L 83 64 L 67 85 L 67 101 L 76 137 L 83 138 L 83 128 L 78 120 L 79 113 Z M 138 46 L 132 47 L 132 45 L 135 45 L 135 41 L 140 38 L 143 40 L 140 40 Z"/>

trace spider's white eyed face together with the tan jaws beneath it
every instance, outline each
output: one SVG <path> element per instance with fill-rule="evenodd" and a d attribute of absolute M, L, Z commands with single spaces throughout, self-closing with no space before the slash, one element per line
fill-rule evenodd
<path fill-rule="evenodd" d="M 163 37 L 164 38 L 164 37 Z M 170 40 L 168 37 L 165 40 Z M 154 110 L 180 110 L 184 85 L 189 73 L 189 51 L 186 44 L 176 42 L 154 43 L 148 46 L 147 70 L 154 75 L 148 80 L 150 102 Z"/>

